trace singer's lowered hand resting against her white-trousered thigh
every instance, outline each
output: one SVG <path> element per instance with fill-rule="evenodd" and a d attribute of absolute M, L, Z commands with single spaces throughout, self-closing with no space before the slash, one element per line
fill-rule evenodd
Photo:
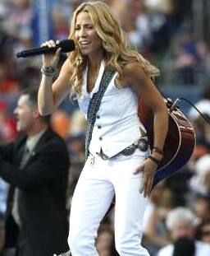
<path fill-rule="evenodd" d="M 140 193 L 144 192 L 144 197 L 148 197 L 153 188 L 153 179 L 155 171 L 157 170 L 158 165 L 153 162 L 151 159 L 147 158 L 142 165 L 139 165 L 134 174 L 138 174 L 139 172 L 143 172 L 143 179 L 140 188 Z"/>

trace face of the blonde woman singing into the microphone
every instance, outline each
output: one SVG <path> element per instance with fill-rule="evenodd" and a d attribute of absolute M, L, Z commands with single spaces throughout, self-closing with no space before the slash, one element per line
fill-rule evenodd
<path fill-rule="evenodd" d="M 88 12 L 80 12 L 76 17 L 75 40 L 83 55 L 97 58 L 103 54 L 102 40 L 95 30 Z"/>

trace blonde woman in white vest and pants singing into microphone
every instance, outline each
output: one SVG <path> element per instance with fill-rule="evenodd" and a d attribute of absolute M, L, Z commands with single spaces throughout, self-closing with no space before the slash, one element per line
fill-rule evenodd
<path fill-rule="evenodd" d="M 61 49 L 43 55 L 39 111 L 50 114 L 71 91 L 87 117 L 87 160 L 72 198 L 69 244 L 73 256 L 96 256 L 98 226 L 116 197 L 115 239 L 120 255 L 148 255 L 141 245 L 144 208 L 163 156 L 168 114 L 153 85 L 158 69 L 131 49 L 125 32 L 103 2 L 74 12 L 75 41 L 56 81 Z M 55 47 L 49 40 L 43 45 Z M 138 118 L 138 97 L 153 110 L 154 141 Z"/>

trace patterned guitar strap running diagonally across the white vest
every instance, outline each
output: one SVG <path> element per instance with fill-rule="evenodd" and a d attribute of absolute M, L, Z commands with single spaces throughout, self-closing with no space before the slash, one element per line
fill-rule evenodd
<path fill-rule="evenodd" d="M 87 125 L 86 125 L 86 135 L 85 135 L 85 159 L 89 156 L 89 143 L 92 138 L 92 133 L 94 130 L 94 123 L 96 120 L 96 115 L 98 113 L 99 106 L 101 104 L 103 95 L 107 90 L 112 77 L 115 74 L 115 70 L 108 70 L 105 68 L 103 72 L 103 77 L 100 81 L 98 92 L 94 93 L 92 99 L 89 101 L 89 109 L 87 114 Z"/>

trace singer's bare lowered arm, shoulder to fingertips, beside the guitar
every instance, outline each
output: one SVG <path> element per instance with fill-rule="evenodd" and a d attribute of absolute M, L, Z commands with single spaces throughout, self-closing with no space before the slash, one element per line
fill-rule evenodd
<path fill-rule="evenodd" d="M 154 114 L 153 131 L 154 140 L 153 147 L 158 147 L 161 151 L 164 147 L 164 142 L 167 137 L 168 129 L 168 112 L 162 95 L 154 86 L 153 81 L 144 72 L 139 63 L 127 64 L 123 69 L 123 80 L 129 84 L 139 96 L 144 99 L 144 102 L 152 109 Z M 158 160 L 162 159 L 162 155 L 154 151 L 152 156 Z M 141 191 L 148 196 L 153 186 L 154 171 L 158 168 L 158 164 L 148 158 L 144 164 L 139 166 L 135 173 L 144 171 L 144 178 Z"/>

